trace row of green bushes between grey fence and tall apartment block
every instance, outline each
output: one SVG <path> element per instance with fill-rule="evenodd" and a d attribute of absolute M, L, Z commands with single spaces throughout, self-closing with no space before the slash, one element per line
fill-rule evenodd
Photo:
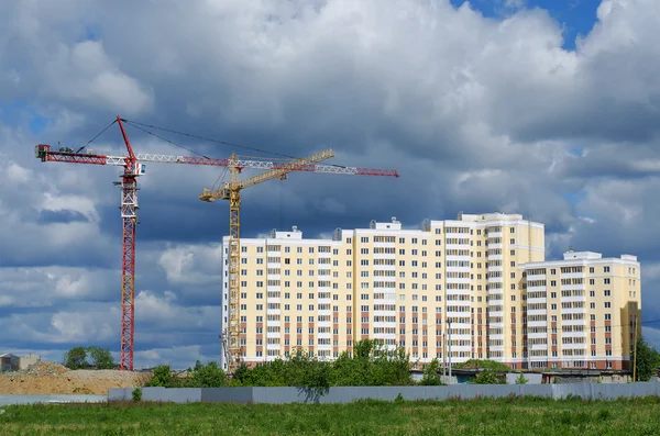
<path fill-rule="evenodd" d="M 220 388 L 220 387 L 297 387 L 318 393 L 330 387 L 360 385 L 440 385 L 440 365 L 433 360 L 427 365 L 422 379 L 414 382 L 410 374 L 410 357 L 403 348 L 387 350 L 374 340 L 355 344 L 353 355 L 342 353 L 332 362 L 319 360 L 304 350 L 285 359 L 263 366 L 240 366 L 232 378 L 216 364 L 189 369 L 185 377 L 175 377 L 168 366 L 154 369 L 147 387 L 166 388 Z"/>

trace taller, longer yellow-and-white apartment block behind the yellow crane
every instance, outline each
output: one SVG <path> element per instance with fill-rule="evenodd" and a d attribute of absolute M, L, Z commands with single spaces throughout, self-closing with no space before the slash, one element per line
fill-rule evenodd
<path fill-rule="evenodd" d="M 223 332 L 228 244 L 226 237 Z M 419 230 L 405 230 L 393 219 L 369 228 L 337 228 L 332 239 L 306 239 L 296 227 L 242 238 L 242 359 L 257 365 L 297 348 L 332 359 L 372 338 L 405 347 L 421 364 L 493 359 L 527 368 L 532 360 L 525 276 L 528 266 L 543 264 L 543 224 L 518 214 L 460 213 L 457 220 L 427 220 Z"/>

